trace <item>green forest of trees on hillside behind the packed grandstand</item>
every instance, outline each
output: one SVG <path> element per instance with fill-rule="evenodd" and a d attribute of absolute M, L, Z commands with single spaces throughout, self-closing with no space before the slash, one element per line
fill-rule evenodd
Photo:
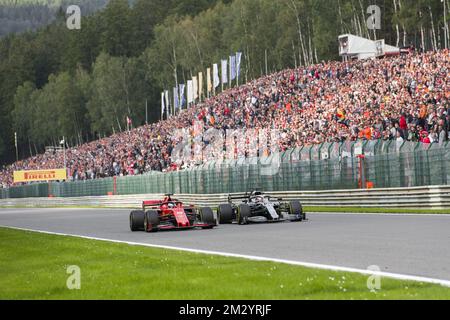
<path fill-rule="evenodd" d="M 376 31 L 366 26 L 373 4 Z M 157 121 L 163 88 L 236 51 L 250 80 L 337 59 L 342 33 L 436 50 L 444 25 L 441 0 L 110 0 L 81 30 L 60 12 L 0 40 L 0 163 L 15 160 L 14 132 L 23 158 L 62 136 L 75 145 L 124 130 L 127 116 L 141 125 L 146 101 Z"/>

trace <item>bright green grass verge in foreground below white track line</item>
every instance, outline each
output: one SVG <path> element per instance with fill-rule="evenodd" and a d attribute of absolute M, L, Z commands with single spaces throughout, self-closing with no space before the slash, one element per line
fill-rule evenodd
<path fill-rule="evenodd" d="M 206 232 L 206 231 L 205 231 Z M 0 228 L 0 299 L 449 299 L 450 288 Z M 81 289 L 66 287 L 67 267 Z"/>

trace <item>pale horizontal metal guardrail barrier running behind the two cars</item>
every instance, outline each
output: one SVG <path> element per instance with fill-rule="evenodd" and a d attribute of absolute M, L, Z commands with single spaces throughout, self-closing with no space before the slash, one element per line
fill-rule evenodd
<path fill-rule="evenodd" d="M 334 191 L 289 191 L 269 192 L 273 198 L 298 199 L 304 206 L 314 207 L 381 207 L 381 208 L 450 208 L 450 186 L 389 188 Z M 239 196 L 244 193 L 234 193 Z M 56 207 L 56 206 L 102 206 L 108 208 L 138 208 L 143 200 L 161 199 L 163 194 L 70 197 L 70 198 L 26 198 L 2 199 L 0 206 Z M 187 204 L 217 207 L 228 201 L 228 194 L 190 195 L 175 197 Z"/>

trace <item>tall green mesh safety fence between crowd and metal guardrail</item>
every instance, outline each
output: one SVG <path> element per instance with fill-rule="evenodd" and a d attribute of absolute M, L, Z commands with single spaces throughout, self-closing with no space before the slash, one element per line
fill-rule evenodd
<path fill-rule="evenodd" d="M 16 186 L 0 189 L 0 197 L 227 194 L 252 189 L 320 191 L 448 185 L 449 160 L 450 143 L 324 143 L 267 158 L 212 161 L 177 172 Z"/>

